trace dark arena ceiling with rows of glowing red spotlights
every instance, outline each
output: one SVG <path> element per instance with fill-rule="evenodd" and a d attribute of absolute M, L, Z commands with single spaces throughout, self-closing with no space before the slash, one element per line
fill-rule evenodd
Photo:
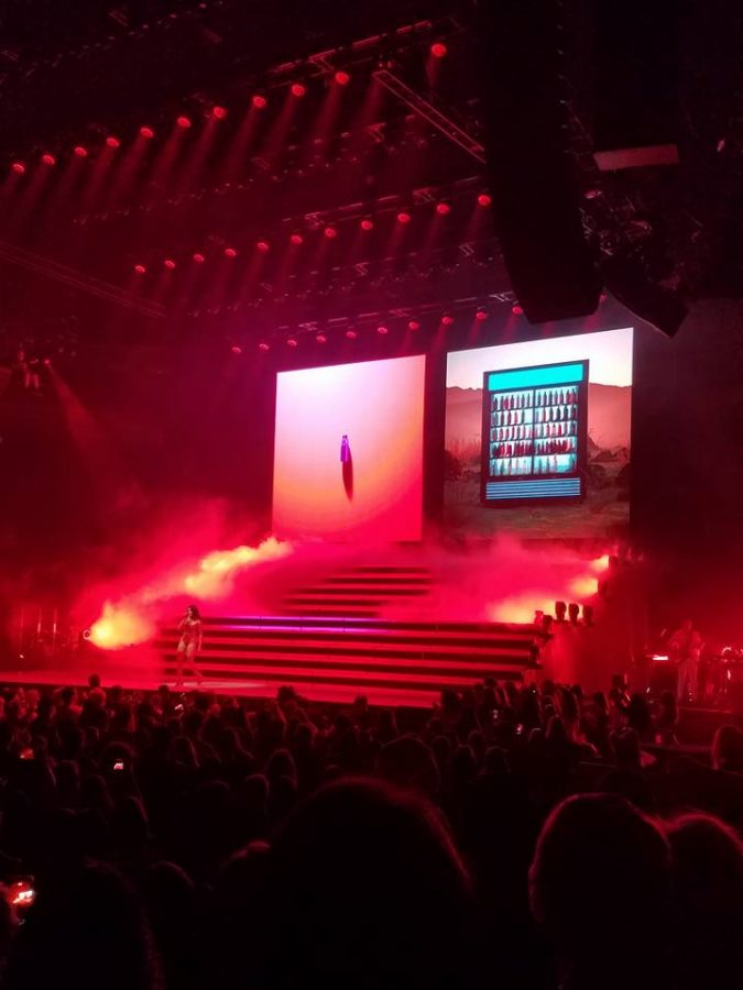
<path fill-rule="evenodd" d="M 0 332 L 256 348 L 511 302 L 474 7 L 4 0 Z M 743 14 L 676 7 L 681 164 L 611 174 L 593 4 L 567 4 L 583 224 L 599 262 L 740 295 Z"/>

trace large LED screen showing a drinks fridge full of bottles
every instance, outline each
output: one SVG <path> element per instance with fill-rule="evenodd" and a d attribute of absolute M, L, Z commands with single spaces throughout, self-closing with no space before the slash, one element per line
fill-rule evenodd
<path fill-rule="evenodd" d="M 632 329 L 450 353 L 445 524 L 472 537 L 623 535 Z"/>

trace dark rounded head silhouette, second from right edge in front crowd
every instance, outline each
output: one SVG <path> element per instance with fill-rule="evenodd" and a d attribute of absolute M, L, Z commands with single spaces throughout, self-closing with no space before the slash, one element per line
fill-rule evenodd
<path fill-rule="evenodd" d="M 623 798 L 569 798 L 542 831 L 529 888 L 534 916 L 570 986 L 597 986 L 600 966 L 603 986 L 623 985 L 632 974 L 635 986 L 649 980 L 657 988 L 656 964 L 666 961 L 670 850 L 651 818 Z"/>

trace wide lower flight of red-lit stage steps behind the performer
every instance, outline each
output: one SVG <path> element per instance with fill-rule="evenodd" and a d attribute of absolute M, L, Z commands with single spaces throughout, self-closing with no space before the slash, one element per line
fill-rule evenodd
<path fill-rule="evenodd" d="M 157 641 L 165 676 L 175 679 L 178 634 Z M 414 623 L 331 616 L 204 618 L 198 668 L 205 683 L 272 696 L 282 684 L 317 701 L 364 694 L 372 704 L 429 705 L 441 689 L 484 678 L 522 681 L 538 669 L 533 626 Z M 226 686 L 225 686 L 226 685 Z"/>

